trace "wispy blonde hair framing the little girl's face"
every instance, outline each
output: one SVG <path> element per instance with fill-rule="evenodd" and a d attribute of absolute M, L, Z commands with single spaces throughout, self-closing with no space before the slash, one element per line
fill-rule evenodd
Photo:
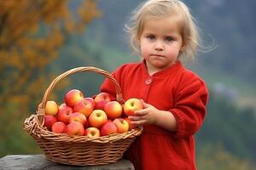
<path fill-rule="evenodd" d="M 131 14 L 129 23 L 125 24 L 125 31 L 131 34 L 131 48 L 139 52 L 139 38 L 145 20 L 163 17 L 176 17 L 185 45 L 178 58 L 194 60 L 197 48 L 200 46 L 198 27 L 187 5 L 179 0 L 148 0 L 139 5 Z"/>

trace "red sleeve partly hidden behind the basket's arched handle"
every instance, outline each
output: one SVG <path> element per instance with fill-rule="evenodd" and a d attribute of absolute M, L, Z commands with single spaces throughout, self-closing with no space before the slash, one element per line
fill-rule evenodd
<path fill-rule="evenodd" d="M 120 83 L 121 68 L 118 68 L 116 71 L 113 71 L 112 76 L 115 80 L 117 80 L 117 82 Z M 106 78 L 104 80 L 100 88 L 100 91 L 108 93 L 111 97 L 111 100 L 116 100 L 116 89 L 113 85 L 113 82 L 110 79 Z"/>

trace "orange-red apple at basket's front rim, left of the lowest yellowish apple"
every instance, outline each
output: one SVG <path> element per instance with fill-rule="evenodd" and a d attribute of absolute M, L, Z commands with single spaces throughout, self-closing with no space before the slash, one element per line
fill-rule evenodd
<path fill-rule="evenodd" d="M 84 126 L 80 122 L 71 122 L 67 125 L 68 136 L 83 136 Z"/>

